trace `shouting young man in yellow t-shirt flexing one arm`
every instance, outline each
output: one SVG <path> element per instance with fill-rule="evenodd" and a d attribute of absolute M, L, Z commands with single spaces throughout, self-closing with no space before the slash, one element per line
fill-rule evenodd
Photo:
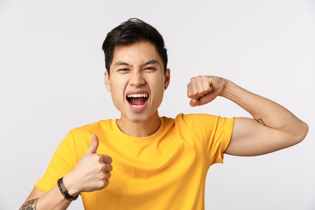
<path fill-rule="evenodd" d="M 66 209 L 78 194 L 87 210 L 204 209 L 208 168 L 222 163 L 223 153 L 263 155 L 306 136 L 307 125 L 281 105 L 213 76 L 191 79 L 190 105 L 222 96 L 254 119 L 160 117 L 170 83 L 167 51 L 141 20 L 113 29 L 103 50 L 105 85 L 121 117 L 70 130 L 21 209 Z"/>

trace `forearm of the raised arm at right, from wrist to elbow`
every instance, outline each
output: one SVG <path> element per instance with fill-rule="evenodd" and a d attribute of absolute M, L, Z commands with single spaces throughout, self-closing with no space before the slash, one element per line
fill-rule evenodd
<path fill-rule="evenodd" d="M 251 93 L 229 80 L 226 81 L 221 96 L 237 103 L 254 119 L 268 127 L 290 132 L 301 140 L 307 133 L 307 125 L 289 110 L 267 98 Z"/>

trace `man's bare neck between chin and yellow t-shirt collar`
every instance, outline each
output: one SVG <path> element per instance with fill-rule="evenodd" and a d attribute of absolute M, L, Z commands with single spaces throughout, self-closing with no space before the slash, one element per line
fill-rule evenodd
<path fill-rule="evenodd" d="M 126 116 L 121 115 L 117 120 L 119 129 L 127 135 L 134 137 L 145 137 L 152 135 L 161 126 L 161 119 L 157 111 L 147 120 L 141 122 L 130 121 Z"/>

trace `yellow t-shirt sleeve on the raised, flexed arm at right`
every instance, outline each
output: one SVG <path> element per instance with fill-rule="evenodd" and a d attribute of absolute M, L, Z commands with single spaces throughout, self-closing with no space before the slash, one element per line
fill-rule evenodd
<path fill-rule="evenodd" d="M 183 120 L 204 145 L 209 166 L 223 163 L 223 152 L 231 139 L 234 119 L 210 114 L 187 114 Z"/>

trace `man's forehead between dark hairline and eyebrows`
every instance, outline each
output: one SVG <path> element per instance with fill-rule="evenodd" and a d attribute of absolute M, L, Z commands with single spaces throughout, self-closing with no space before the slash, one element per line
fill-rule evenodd
<path fill-rule="evenodd" d="M 118 61 L 131 65 L 141 65 L 153 59 L 162 65 L 163 62 L 156 47 L 150 42 L 140 41 L 130 45 L 116 46 L 111 65 Z"/>

